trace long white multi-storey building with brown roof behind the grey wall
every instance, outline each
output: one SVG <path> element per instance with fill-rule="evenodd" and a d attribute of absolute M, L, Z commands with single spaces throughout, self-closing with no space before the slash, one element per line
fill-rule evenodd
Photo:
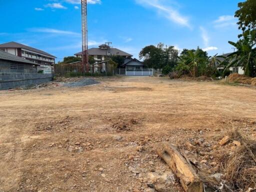
<path fill-rule="evenodd" d="M 0 44 L 0 50 L 25 58 L 39 65 L 37 70 L 42 70 L 43 73 L 52 73 L 51 66 L 55 63 L 56 57 L 45 51 L 14 41 Z"/>

